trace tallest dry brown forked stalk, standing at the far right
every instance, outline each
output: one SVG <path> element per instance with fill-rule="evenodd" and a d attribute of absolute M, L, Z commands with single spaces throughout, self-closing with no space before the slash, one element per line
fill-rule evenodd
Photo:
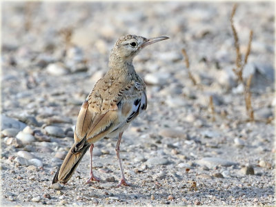
<path fill-rule="evenodd" d="M 237 30 L 235 29 L 235 26 L 233 23 L 233 17 L 235 15 L 236 10 L 237 10 L 237 3 L 234 4 L 231 17 L 230 17 L 230 23 L 231 23 L 231 28 L 233 30 L 235 49 L 236 49 L 236 68 L 233 68 L 233 72 L 235 72 L 235 75 L 237 76 L 238 83 L 242 83 L 242 85 L 244 86 L 244 101 L 246 102 L 246 112 L 248 114 L 249 120 L 254 121 L 254 110 L 251 104 L 251 92 L 250 92 L 250 84 L 251 84 L 253 75 L 250 75 L 250 77 L 248 77 L 246 83 L 244 81 L 244 78 L 242 77 L 244 66 L 246 66 L 246 63 L 248 61 L 248 57 L 251 51 L 253 30 L 250 30 L 250 36 L 249 36 L 248 46 L 246 50 L 246 55 L 244 57 L 244 62 L 242 63 L 242 54 L 239 50 L 239 38 L 237 36 Z"/>

